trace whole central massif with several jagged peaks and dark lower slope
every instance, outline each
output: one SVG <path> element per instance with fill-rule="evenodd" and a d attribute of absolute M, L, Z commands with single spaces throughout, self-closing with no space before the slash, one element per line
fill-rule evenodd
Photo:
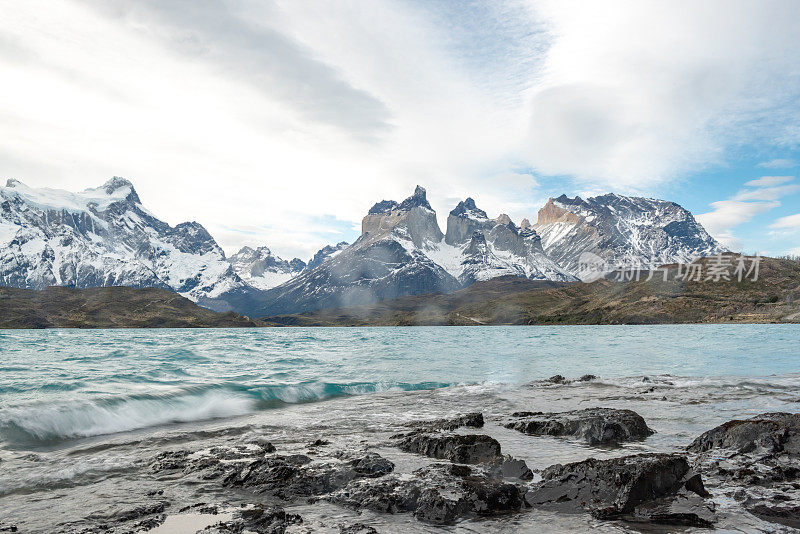
<path fill-rule="evenodd" d="M 311 264 L 309 264 L 311 267 Z M 497 276 L 577 280 L 551 261 L 532 229 L 508 216 L 489 219 L 472 199 L 450 213 L 442 233 L 425 189 L 403 202 L 375 204 L 361 237 L 336 256 L 270 290 L 263 314 L 369 304 L 403 295 L 447 292 Z"/>

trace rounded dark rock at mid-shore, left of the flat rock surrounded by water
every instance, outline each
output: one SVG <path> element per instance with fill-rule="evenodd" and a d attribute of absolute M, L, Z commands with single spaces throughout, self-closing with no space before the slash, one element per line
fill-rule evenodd
<path fill-rule="evenodd" d="M 500 456 L 500 443 L 480 434 L 412 432 L 402 438 L 397 446 L 406 452 L 460 464 L 487 462 Z"/>

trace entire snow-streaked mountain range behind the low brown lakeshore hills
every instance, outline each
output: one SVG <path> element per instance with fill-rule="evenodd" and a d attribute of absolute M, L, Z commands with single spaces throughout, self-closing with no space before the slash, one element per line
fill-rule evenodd
<path fill-rule="evenodd" d="M 0 187 L 0 286 L 155 287 L 213 310 L 266 316 L 449 293 L 501 276 L 574 282 L 585 254 L 650 266 L 725 250 L 681 206 L 614 194 L 562 195 L 536 224 L 519 225 L 466 198 L 442 232 L 417 186 L 401 202 L 376 203 L 361 228 L 353 244 L 326 246 L 307 262 L 266 246 L 226 257 L 201 224 L 158 219 L 128 180 L 79 193 L 9 180 Z"/>

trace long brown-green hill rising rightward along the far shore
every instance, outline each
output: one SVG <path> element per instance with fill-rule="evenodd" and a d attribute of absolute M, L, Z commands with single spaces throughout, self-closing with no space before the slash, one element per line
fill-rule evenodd
<path fill-rule="evenodd" d="M 738 256 L 729 256 L 732 262 Z M 706 271 L 710 259 L 695 262 Z M 749 260 L 748 260 L 749 261 Z M 370 306 L 266 317 L 271 325 L 499 325 L 800 322 L 800 262 L 762 258 L 758 279 L 683 280 L 677 265 L 650 280 L 478 282 L 452 294 L 404 297 Z M 704 271 L 705 272 L 705 271 Z M 534 285 L 531 285 L 534 284 Z"/>

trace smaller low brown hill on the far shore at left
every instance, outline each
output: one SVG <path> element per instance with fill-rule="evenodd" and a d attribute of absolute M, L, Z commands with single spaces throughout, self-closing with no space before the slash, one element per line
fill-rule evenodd
<path fill-rule="evenodd" d="M 257 326 L 164 289 L 0 287 L 0 328 L 199 328 Z"/>

